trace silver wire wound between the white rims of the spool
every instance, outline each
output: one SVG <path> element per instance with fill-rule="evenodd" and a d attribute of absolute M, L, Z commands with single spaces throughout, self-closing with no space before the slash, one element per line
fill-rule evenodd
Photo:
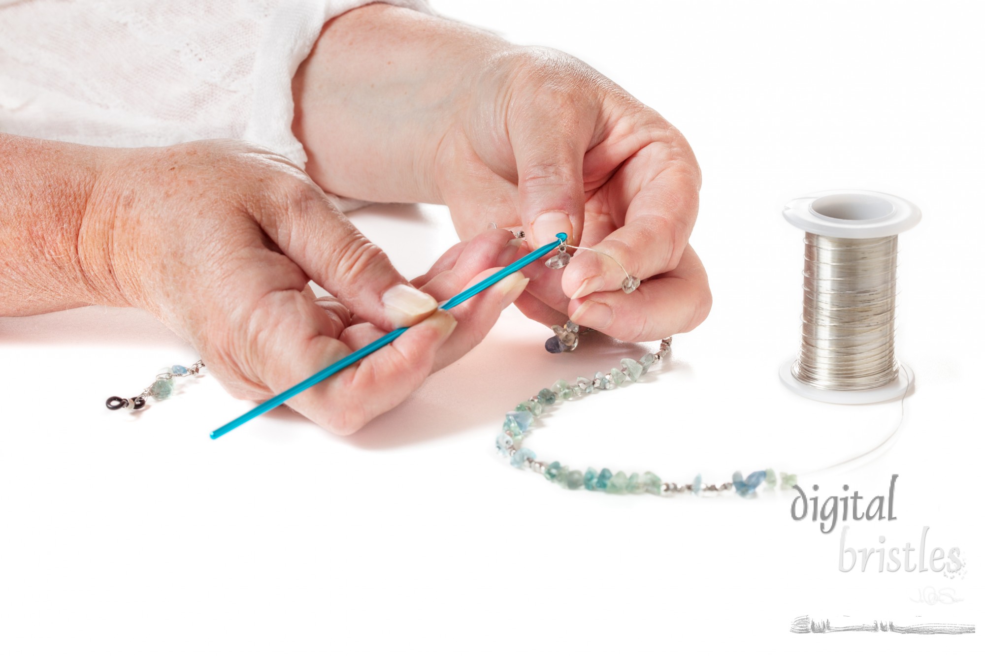
<path fill-rule="evenodd" d="M 882 387 L 895 379 L 896 235 L 804 238 L 800 358 L 792 373 L 831 390 Z"/>

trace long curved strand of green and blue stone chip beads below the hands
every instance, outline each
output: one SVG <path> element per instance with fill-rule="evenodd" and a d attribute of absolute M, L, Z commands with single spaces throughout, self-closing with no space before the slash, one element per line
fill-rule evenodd
<path fill-rule="evenodd" d="M 568 322 L 570 323 L 570 322 Z M 555 326 L 558 328 L 558 326 Z M 576 327 L 577 328 L 577 327 Z M 555 332 L 558 332 L 557 330 Z M 573 332 L 577 332 L 576 330 Z M 556 336 L 558 337 L 558 336 Z M 555 338 L 552 338 L 555 339 Z M 502 430 L 495 436 L 496 451 L 509 459 L 509 463 L 517 469 L 529 469 L 535 474 L 541 474 L 545 479 L 558 484 L 565 490 L 589 490 L 593 492 L 609 492 L 612 494 L 664 494 L 672 492 L 738 492 L 740 496 L 755 496 L 757 489 L 773 489 L 780 484 L 781 490 L 786 490 L 797 484 L 795 474 L 781 472 L 779 479 L 771 469 L 755 471 L 743 478 L 740 472 L 732 475 L 732 480 L 721 484 L 705 484 L 700 475 L 687 484 L 664 482 L 653 472 L 629 474 L 613 472 L 603 468 L 596 471 L 589 467 L 584 472 L 569 469 L 557 460 L 551 463 L 537 460 L 537 454 L 523 445 L 523 440 L 530 431 L 534 421 L 544 411 L 560 401 L 570 401 L 597 390 L 615 389 L 624 383 L 636 382 L 645 375 L 654 362 L 663 360 L 670 352 L 670 338 L 660 343 L 656 354 L 647 354 L 634 361 L 624 358 L 622 366 L 613 367 L 609 372 L 597 371 L 591 378 L 578 376 L 574 383 L 558 380 L 550 389 L 544 388 L 535 396 L 519 403 L 516 408 L 506 413 Z"/>

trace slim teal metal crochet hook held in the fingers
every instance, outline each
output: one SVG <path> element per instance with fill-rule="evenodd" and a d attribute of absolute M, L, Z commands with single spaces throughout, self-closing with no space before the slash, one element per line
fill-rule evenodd
<path fill-rule="evenodd" d="M 473 285 L 469 289 L 464 290 L 462 292 L 459 292 L 458 294 L 453 295 L 451 298 L 448 298 L 444 302 L 440 303 L 438 305 L 438 307 L 440 307 L 441 309 L 451 309 L 455 305 L 458 305 L 459 303 L 465 302 L 466 300 L 468 300 L 472 296 L 477 295 L 480 292 L 482 292 L 484 290 L 488 290 L 489 288 L 493 287 L 493 285 L 495 285 L 496 283 L 498 283 L 500 280 L 502 280 L 503 278 L 505 278 L 509 274 L 511 274 L 511 273 L 513 273 L 515 271 L 519 271 L 520 269 L 522 269 L 523 267 L 527 266 L 531 262 L 544 257 L 545 255 L 547 255 L 548 253 L 550 253 L 552 250 L 555 250 L 556 248 L 558 248 L 558 246 L 560 246 L 562 243 L 564 243 L 567 240 L 567 234 L 565 232 L 558 232 L 558 234 L 556 234 L 555 236 L 558 237 L 558 240 L 557 241 L 552 242 L 552 243 L 549 243 L 549 244 L 544 245 L 544 246 L 541 246 L 540 248 L 538 248 L 537 250 L 533 251 L 529 255 L 524 255 L 523 257 L 521 257 L 520 259 L 518 259 L 516 262 L 513 262 L 509 266 L 504 267 L 503 269 L 495 272 L 489 278 L 486 278 L 486 279 L 484 279 L 484 280 L 476 283 L 475 285 Z M 408 330 L 408 328 L 397 328 L 396 330 L 391 331 L 391 332 L 387 333 L 386 335 L 383 335 L 383 337 L 379 338 L 375 342 L 372 342 L 370 344 L 365 345 L 359 351 L 355 351 L 355 352 L 349 354 L 348 356 L 346 356 L 345 358 L 343 358 L 340 361 L 336 361 L 336 362 L 333 362 L 332 364 L 329 364 L 328 366 L 326 366 L 325 368 L 323 368 L 321 371 L 318 371 L 314 375 L 312 375 L 310 377 L 307 377 L 304 380 L 300 381 L 294 387 L 291 387 L 289 389 L 284 390 L 283 392 L 281 392 L 280 394 L 278 394 L 274 398 L 268 399 L 267 401 L 264 401 L 263 403 L 261 403 L 259 406 L 257 406 L 253 410 L 250 410 L 247 413 L 243 413 L 239 417 L 237 417 L 234 420 L 232 420 L 229 424 L 227 424 L 225 426 L 219 426 L 218 428 L 216 428 L 215 430 L 213 430 L 212 432 L 210 432 L 209 433 L 209 436 L 212 437 L 213 439 L 216 439 L 217 437 L 222 437 L 223 435 L 225 435 L 226 433 L 228 433 L 233 428 L 236 428 L 238 426 L 242 426 L 243 424 L 245 424 L 246 422 L 250 421 L 251 419 L 253 419 L 255 417 L 259 417 L 260 415 L 263 415 L 264 413 L 273 410 L 274 408 L 276 408 L 279 405 L 283 404 L 285 401 L 287 401 L 291 397 L 295 396 L 296 394 L 300 394 L 301 392 L 303 392 L 304 390 L 306 390 L 308 387 L 311 387 L 312 385 L 317 385 L 318 383 L 320 383 L 325 378 L 328 378 L 329 376 L 331 376 L 331 375 L 333 375 L 335 373 L 338 373 L 339 371 L 341 371 L 342 369 L 346 368 L 350 364 L 355 364 L 356 362 L 361 361 L 363 358 L 365 358 L 369 354 L 371 354 L 371 353 L 373 353 L 375 351 L 379 351 L 380 349 L 382 349 L 383 347 L 385 347 L 387 344 L 389 344 L 393 340 L 395 340 L 398 337 L 400 337 L 401 335 L 403 335 L 405 332 L 407 332 L 407 330 Z"/>

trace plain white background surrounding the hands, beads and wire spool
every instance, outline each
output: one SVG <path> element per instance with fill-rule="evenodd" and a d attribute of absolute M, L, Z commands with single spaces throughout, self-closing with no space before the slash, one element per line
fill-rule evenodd
<path fill-rule="evenodd" d="M 562 492 L 493 450 L 502 413 L 644 346 L 543 350 L 514 309 L 462 361 L 351 437 L 250 407 L 209 376 L 138 415 L 103 401 L 197 356 L 137 310 L 0 318 L 0 652 L 972 653 L 977 635 L 795 635 L 802 615 L 976 623 L 981 190 L 976 2 L 453 2 L 437 10 L 589 62 L 661 111 L 704 171 L 692 243 L 715 305 L 647 382 L 561 407 L 529 440 L 583 469 L 726 480 L 864 452 L 899 403 L 803 400 L 777 369 L 799 336 L 801 194 L 908 198 L 897 353 L 916 371 L 899 442 L 804 483 L 886 493 L 848 544 L 958 547 L 966 576 L 838 571 L 841 528 L 755 500 Z M 409 276 L 454 242 L 436 207 L 354 217 Z M 930 606 L 918 590 L 964 601 Z M 978 652 L 980 653 L 980 652 Z"/>

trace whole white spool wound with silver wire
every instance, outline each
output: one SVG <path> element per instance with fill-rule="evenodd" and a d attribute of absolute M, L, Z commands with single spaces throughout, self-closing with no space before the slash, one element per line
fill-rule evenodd
<path fill-rule="evenodd" d="M 794 199 L 783 216 L 806 236 L 800 355 L 780 378 L 829 403 L 898 398 L 913 374 L 895 357 L 896 235 L 920 210 L 888 194 L 838 190 Z"/>

